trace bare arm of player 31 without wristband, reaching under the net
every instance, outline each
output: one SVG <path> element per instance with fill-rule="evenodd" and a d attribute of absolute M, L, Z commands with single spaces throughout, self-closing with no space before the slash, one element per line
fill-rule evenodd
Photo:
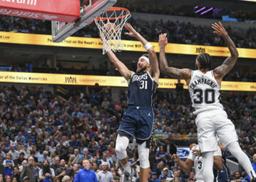
<path fill-rule="evenodd" d="M 127 79 L 127 82 L 129 82 L 129 79 L 131 79 L 131 76 L 132 76 L 132 71 L 129 71 L 127 66 L 125 66 L 124 63 L 121 62 L 121 60 L 116 58 L 116 55 L 110 49 L 108 50 L 107 55 L 111 63 L 114 64 L 114 66 L 117 68 L 119 73 L 122 76 L 124 76 L 125 79 Z"/>

